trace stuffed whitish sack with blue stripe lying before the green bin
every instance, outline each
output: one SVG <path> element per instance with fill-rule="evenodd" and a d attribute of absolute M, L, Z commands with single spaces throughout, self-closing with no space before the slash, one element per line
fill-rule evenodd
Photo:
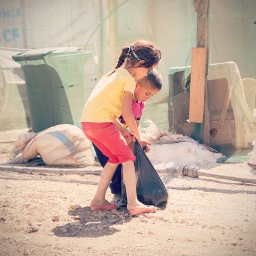
<path fill-rule="evenodd" d="M 22 138 L 24 140 L 22 141 Z M 30 138 L 31 140 L 29 140 Z M 40 155 L 42 160 L 49 165 L 93 165 L 91 142 L 84 136 L 81 129 L 71 124 L 59 124 L 50 127 L 35 136 L 20 136 L 18 145 L 26 144 L 22 149 L 24 162 Z M 10 163 L 17 163 L 15 156 L 18 154 L 15 146 L 10 155 Z M 15 150 L 16 148 L 16 150 Z M 13 153 L 15 152 L 15 154 Z M 20 159 L 18 160 L 20 163 Z"/>

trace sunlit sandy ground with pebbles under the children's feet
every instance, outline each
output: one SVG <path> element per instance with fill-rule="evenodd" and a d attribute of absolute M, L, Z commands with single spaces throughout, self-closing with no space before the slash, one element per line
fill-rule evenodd
<path fill-rule="evenodd" d="M 18 132 L 0 133 L 0 162 Z M 246 163 L 212 172 L 256 179 Z M 166 207 L 130 217 L 90 211 L 97 175 L 0 171 L 0 255 L 256 255 L 256 185 L 160 176 Z"/>

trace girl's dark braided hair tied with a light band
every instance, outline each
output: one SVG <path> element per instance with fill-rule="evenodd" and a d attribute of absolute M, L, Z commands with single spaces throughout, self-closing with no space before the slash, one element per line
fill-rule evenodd
<path fill-rule="evenodd" d="M 132 67 L 139 61 L 144 60 L 143 67 L 151 68 L 154 64 L 157 64 L 161 59 L 161 51 L 151 41 L 139 40 L 134 42 L 131 46 L 124 46 L 119 55 L 115 70 L 110 74 L 113 74 L 116 69 L 120 68 L 125 59 L 127 63 Z"/>

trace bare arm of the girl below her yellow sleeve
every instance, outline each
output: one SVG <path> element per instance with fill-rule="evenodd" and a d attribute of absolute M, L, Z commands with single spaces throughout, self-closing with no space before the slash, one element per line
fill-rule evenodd
<path fill-rule="evenodd" d="M 138 126 L 132 111 L 132 100 L 133 100 L 133 94 L 131 92 L 124 92 L 122 116 L 125 123 L 130 127 L 131 133 L 140 142 L 141 139 L 140 139 Z"/>

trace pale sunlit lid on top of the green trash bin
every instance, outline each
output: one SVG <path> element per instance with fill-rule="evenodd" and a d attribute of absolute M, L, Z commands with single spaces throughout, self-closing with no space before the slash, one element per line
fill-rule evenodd
<path fill-rule="evenodd" d="M 15 61 L 39 60 L 39 59 L 43 59 L 46 55 L 75 54 L 82 51 L 83 50 L 80 47 L 51 47 L 51 48 L 33 49 L 26 52 L 18 53 L 16 55 L 13 55 L 12 58 Z"/>

